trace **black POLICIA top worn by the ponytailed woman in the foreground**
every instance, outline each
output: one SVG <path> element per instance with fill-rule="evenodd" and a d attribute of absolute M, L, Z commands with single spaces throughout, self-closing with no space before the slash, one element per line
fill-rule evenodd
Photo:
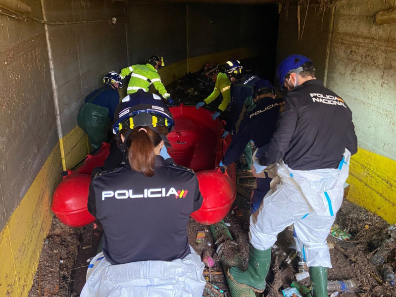
<path fill-rule="evenodd" d="M 111 264 L 182 259 L 190 251 L 187 223 L 202 196 L 194 171 L 155 157 L 154 175 L 129 164 L 93 178 L 88 210 L 102 224 Z"/>

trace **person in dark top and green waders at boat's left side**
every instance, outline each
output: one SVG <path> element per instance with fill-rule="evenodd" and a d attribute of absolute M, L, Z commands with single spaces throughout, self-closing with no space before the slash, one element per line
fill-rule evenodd
<path fill-rule="evenodd" d="M 118 73 L 107 73 L 103 83 L 103 87 L 87 96 L 77 116 L 78 125 L 88 135 L 93 148 L 109 140 L 114 111 L 120 102 L 118 89 L 122 88 L 122 80 Z"/>

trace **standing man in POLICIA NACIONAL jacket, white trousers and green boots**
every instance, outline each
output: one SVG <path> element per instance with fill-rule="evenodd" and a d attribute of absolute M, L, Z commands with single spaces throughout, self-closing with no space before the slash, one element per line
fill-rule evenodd
<path fill-rule="evenodd" d="M 357 139 L 347 103 L 316 80 L 314 70 L 309 58 L 297 54 L 279 65 L 278 79 L 289 90 L 284 111 L 263 154 L 253 157 L 256 173 L 270 168 L 276 173 L 250 217 L 248 268 L 232 267 L 228 273 L 255 291 L 265 289 L 277 235 L 293 224 L 312 296 L 328 296 L 327 269 L 332 266 L 326 238 L 342 204 Z"/>

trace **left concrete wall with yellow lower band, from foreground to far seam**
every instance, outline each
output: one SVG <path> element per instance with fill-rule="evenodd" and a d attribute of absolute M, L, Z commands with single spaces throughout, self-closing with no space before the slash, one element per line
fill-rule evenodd
<path fill-rule="evenodd" d="M 24 2 L 48 22 L 48 35 L 40 22 L 0 14 L 0 296 L 18 297 L 37 269 L 62 162 L 71 168 L 87 153 L 78 108 L 105 73 L 127 63 L 125 20 L 54 24 L 125 16 L 124 3 Z"/>

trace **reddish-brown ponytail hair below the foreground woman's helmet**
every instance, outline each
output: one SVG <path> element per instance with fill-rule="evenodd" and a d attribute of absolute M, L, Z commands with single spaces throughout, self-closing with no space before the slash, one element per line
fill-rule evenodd
<path fill-rule="evenodd" d="M 168 134 L 168 128 L 165 126 L 157 126 L 156 129 L 163 135 Z M 127 131 L 127 129 L 122 129 L 121 134 L 125 136 Z M 124 141 L 132 170 L 142 172 L 146 176 L 154 175 L 154 148 L 161 140 L 159 134 L 149 127 L 138 126 L 132 130 Z"/>

